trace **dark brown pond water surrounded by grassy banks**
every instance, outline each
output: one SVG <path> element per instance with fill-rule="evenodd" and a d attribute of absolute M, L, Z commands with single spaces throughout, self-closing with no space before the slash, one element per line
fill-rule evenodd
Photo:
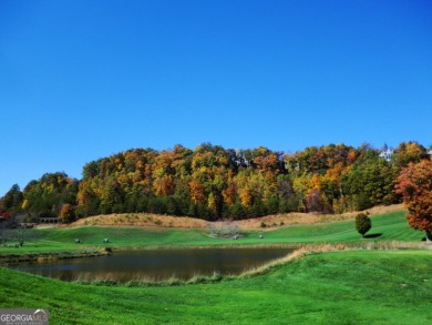
<path fill-rule="evenodd" d="M 271 260 L 286 256 L 290 248 L 181 248 L 114 251 L 100 257 L 66 258 L 48 263 L 21 263 L 10 268 L 62 281 L 112 278 L 187 280 L 194 275 L 240 274 Z"/>

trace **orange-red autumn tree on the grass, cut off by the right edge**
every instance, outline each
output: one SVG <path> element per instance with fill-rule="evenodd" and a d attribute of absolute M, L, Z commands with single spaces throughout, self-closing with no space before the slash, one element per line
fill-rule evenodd
<path fill-rule="evenodd" d="M 411 227 L 425 232 L 432 241 L 432 162 L 422 160 L 401 170 L 395 191 L 403 196 Z"/>

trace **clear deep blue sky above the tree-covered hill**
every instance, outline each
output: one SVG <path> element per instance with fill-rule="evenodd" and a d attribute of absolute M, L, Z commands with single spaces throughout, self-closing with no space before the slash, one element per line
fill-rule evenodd
<path fill-rule="evenodd" d="M 0 1 L 0 195 L 132 148 L 432 144 L 429 0 Z"/>

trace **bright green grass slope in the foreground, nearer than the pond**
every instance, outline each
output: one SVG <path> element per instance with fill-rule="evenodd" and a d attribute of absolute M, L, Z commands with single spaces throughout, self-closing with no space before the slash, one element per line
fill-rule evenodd
<path fill-rule="evenodd" d="M 0 268 L 3 308 L 50 324 L 431 324 L 431 251 L 308 255 L 217 284 L 101 287 Z"/>

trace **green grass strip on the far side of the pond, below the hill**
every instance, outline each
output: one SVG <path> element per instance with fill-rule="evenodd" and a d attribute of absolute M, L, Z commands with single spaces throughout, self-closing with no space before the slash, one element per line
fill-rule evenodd
<path fill-rule="evenodd" d="M 292 225 L 264 232 L 246 231 L 238 241 L 214 238 L 206 230 L 156 228 L 134 226 L 82 226 L 75 228 L 35 230 L 38 240 L 22 248 L 0 247 L 0 254 L 76 251 L 88 246 L 215 246 L 254 244 L 302 244 L 302 243 L 358 243 L 382 241 L 420 241 L 422 232 L 410 228 L 404 212 L 392 212 L 372 217 L 369 234 L 381 234 L 373 238 L 361 238 L 353 221 L 329 222 L 312 225 Z M 74 244 L 80 238 L 81 244 Z"/>

